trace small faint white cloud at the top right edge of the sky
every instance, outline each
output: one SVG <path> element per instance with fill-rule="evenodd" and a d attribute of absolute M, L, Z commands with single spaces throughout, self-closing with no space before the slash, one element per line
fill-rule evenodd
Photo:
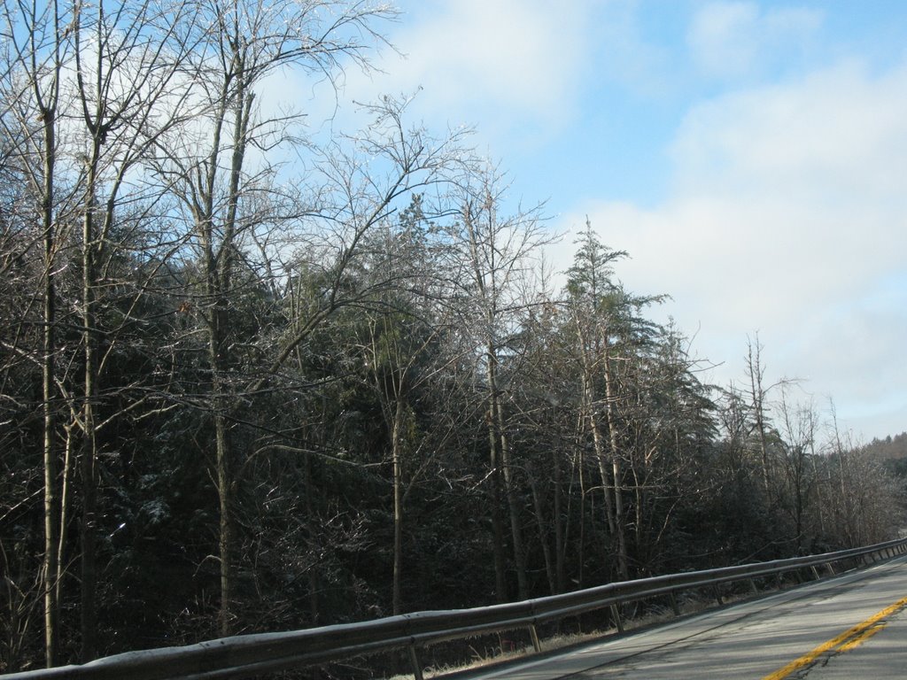
<path fill-rule="evenodd" d="M 687 43 L 703 73 L 746 76 L 802 49 L 821 24 L 822 14 L 814 10 L 763 11 L 753 2 L 712 2 L 694 15 Z"/>

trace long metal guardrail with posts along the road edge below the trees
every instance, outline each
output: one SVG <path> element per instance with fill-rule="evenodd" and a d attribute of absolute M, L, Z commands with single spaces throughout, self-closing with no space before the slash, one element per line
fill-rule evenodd
<path fill-rule="evenodd" d="M 814 578 L 820 578 L 819 567 L 827 568 L 834 574 L 833 565 L 845 560 L 875 561 L 904 552 L 907 552 L 907 539 L 898 539 L 866 548 L 821 555 L 620 581 L 564 595 L 538 597 L 492 607 L 415 612 L 362 623 L 286 633 L 223 637 L 197 645 L 126 652 L 83 665 L 0 675 L 0 679 L 217 680 L 325 664 L 405 648 L 409 651 L 414 676 L 421 680 L 423 668 L 417 651 L 421 646 L 524 628 L 529 631 L 532 644 L 538 652 L 541 651 L 541 646 L 536 627 L 559 618 L 610 607 L 612 616 L 622 631 L 618 605 L 626 602 L 668 595 L 675 613 L 679 614 L 675 599 L 678 591 L 716 588 L 716 597 L 720 603 L 717 586 L 723 583 L 780 575 L 804 568 L 809 568 Z"/>

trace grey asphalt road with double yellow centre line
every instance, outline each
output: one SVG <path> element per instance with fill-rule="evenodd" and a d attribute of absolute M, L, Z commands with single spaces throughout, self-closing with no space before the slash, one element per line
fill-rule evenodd
<path fill-rule="evenodd" d="M 907 556 L 474 678 L 907 677 Z"/>

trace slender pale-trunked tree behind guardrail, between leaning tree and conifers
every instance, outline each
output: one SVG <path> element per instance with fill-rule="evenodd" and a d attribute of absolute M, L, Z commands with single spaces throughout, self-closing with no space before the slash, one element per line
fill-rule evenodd
<path fill-rule="evenodd" d="M 463 353 L 453 343 L 445 248 L 417 195 L 399 220 L 375 229 L 364 260 L 375 298 L 365 314 L 362 351 L 390 439 L 394 614 L 403 611 L 406 500 L 469 420 L 456 412 L 451 394 L 460 389 L 455 367 Z M 420 418 L 417 407 L 424 411 L 428 404 L 434 404 L 430 416 Z"/>

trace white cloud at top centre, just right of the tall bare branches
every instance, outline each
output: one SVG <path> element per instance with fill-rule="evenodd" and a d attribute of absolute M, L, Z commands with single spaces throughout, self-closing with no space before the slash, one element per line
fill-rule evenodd
<path fill-rule="evenodd" d="M 542 0 L 446 0 L 407 15 L 375 66 L 346 74 L 346 96 L 370 101 L 413 93 L 418 112 L 436 124 L 472 125 L 492 137 L 514 121 L 562 125 L 575 111 L 589 60 L 590 3 Z"/>

